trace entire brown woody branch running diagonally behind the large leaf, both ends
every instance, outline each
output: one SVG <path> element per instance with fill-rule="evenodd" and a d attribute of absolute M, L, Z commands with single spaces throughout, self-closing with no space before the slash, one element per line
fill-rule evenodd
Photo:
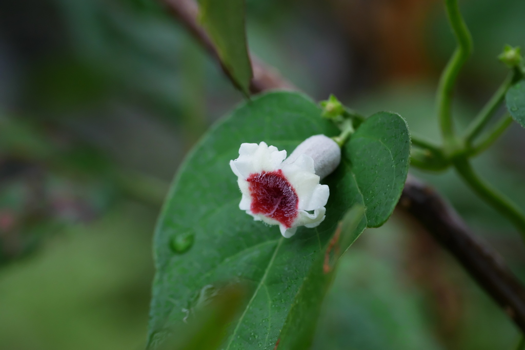
<path fill-rule="evenodd" d="M 161 0 L 181 20 L 193 36 L 221 65 L 217 50 L 197 23 L 198 9 L 193 0 Z M 297 90 L 279 77 L 278 72 L 251 56 L 254 93 L 269 89 Z M 463 265 L 478 284 L 489 293 L 511 319 L 525 332 L 525 289 L 503 259 L 486 243 L 475 238 L 463 220 L 433 189 L 409 176 L 399 206 L 419 221 Z"/>

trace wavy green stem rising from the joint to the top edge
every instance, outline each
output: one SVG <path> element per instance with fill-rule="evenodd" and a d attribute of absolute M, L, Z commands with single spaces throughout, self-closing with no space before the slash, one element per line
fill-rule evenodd
<path fill-rule="evenodd" d="M 445 0 L 448 20 L 454 31 L 457 48 L 443 70 L 437 90 L 437 105 L 439 125 L 443 134 L 445 147 L 454 143 L 454 125 L 451 115 L 454 85 L 461 67 L 465 64 L 472 51 L 472 38 L 461 13 L 457 0 Z"/>

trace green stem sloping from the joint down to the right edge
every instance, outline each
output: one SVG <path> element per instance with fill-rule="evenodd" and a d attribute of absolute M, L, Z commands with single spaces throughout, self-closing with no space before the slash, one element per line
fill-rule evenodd
<path fill-rule="evenodd" d="M 492 188 L 484 179 L 480 178 L 472 169 L 467 158 L 458 158 L 454 161 L 459 175 L 464 181 L 488 204 L 495 208 L 499 213 L 509 219 L 514 226 L 520 231 L 525 239 L 525 215 L 521 210 L 504 195 L 500 194 L 495 188 Z"/>

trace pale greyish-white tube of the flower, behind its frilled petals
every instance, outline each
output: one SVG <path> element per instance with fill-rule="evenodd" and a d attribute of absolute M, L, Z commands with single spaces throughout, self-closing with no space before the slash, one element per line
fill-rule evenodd
<path fill-rule="evenodd" d="M 312 157 L 316 175 L 321 179 L 330 175 L 341 163 L 341 148 L 325 135 L 308 137 L 293 150 L 283 164 L 295 162 L 301 154 Z"/>

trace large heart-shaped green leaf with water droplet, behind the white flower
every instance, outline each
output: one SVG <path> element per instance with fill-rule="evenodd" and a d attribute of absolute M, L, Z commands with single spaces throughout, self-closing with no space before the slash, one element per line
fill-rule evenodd
<path fill-rule="evenodd" d="M 328 284 L 309 277 L 316 275 L 315 262 L 327 254 L 338 222 L 350 207 L 366 208 L 366 218 L 346 235 L 353 238 L 338 243 L 344 251 L 367 220 L 378 226 L 392 214 L 408 171 L 406 123 L 397 114 L 377 113 L 361 124 L 343 149 L 342 164 L 324 179 L 330 198 L 320 226 L 299 228 L 285 239 L 277 227 L 254 221 L 238 208 L 229 160 L 238 156 L 242 142 L 265 141 L 289 154 L 311 135 L 337 134 L 320 114 L 301 94 L 268 93 L 220 121 L 187 157 L 156 227 L 150 340 L 182 322 L 205 288 L 233 281 L 246 285 L 249 301 L 222 348 L 273 349 L 279 339 L 280 349 L 299 346 L 301 330 L 311 328 L 301 328 L 301 315 L 316 319 L 319 291 Z M 302 335 L 308 342 L 312 334 Z"/>

